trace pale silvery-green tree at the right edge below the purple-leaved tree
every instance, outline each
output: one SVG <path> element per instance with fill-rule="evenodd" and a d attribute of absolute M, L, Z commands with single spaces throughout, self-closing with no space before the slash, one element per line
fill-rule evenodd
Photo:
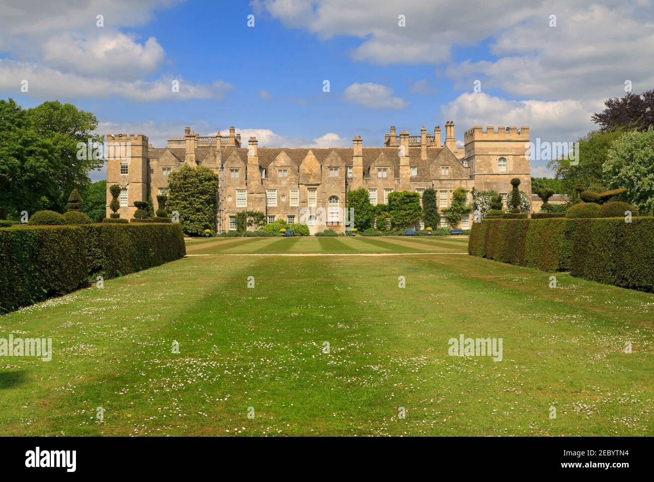
<path fill-rule="evenodd" d="M 624 187 L 623 201 L 640 212 L 654 207 L 654 127 L 631 131 L 617 139 L 603 167 L 609 187 Z"/>

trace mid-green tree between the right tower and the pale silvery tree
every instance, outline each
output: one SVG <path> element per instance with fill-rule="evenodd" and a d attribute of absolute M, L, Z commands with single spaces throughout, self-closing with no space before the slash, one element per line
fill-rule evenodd
<path fill-rule="evenodd" d="M 577 184 L 583 184 L 596 192 L 606 191 L 608 182 L 602 166 L 615 140 L 623 135 L 622 129 L 613 131 L 592 131 L 579 142 L 579 164 L 570 164 L 568 159 L 553 159 L 547 167 L 555 172 L 560 181 L 560 194 L 566 194 L 571 202 L 579 202 Z"/>

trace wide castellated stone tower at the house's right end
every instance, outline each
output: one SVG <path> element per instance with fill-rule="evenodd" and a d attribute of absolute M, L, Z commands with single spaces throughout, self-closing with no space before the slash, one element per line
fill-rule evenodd
<path fill-rule="evenodd" d="M 472 172 L 477 191 L 511 192 L 511 179 L 519 178 L 519 189 L 531 200 L 528 156 L 529 127 L 473 127 L 464 135 L 464 160 Z"/>

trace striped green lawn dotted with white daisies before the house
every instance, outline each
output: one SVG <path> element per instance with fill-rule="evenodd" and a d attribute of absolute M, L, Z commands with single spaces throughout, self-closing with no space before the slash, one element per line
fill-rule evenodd
<path fill-rule="evenodd" d="M 0 336 L 54 342 L 50 362 L 0 358 L 0 433 L 654 434 L 654 295 L 566 274 L 550 289 L 466 245 L 190 240 L 207 256 L 0 316 Z M 317 251 L 415 254 L 222 255 Z M 503 360 L 449 356 L 460 334 L 502 338 Z"/>

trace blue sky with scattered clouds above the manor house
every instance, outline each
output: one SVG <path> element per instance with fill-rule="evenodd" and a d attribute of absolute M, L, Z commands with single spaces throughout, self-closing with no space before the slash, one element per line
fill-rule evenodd
<path fill-rule="evenodd" d="M 1 97 L 68 101 L 100 132 L 155 146 L 184 125 L 235 125 L 260 146 L 379 146 L 389 125 L 417 134 L 446 120 L 458 139 L 530 125 L 532 140 L 566 142 L 625 82 L 654 84 L 649 0 L 7 0 L 0 31 Z"/>

